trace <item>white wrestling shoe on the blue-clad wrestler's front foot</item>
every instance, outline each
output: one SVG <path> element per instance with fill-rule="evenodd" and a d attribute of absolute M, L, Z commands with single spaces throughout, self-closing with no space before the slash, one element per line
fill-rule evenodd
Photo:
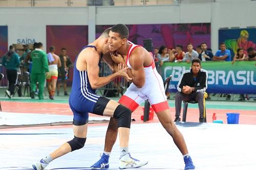
<path fill-rule="evenodd" d="M 131 157 L 130 154 L 126 154 L 119 159 L 120 169 L 136 168 L 144 166 L 145 164 L 147 164 L 147 161 L 140 161 L 138 159 L 134 159 Z"/>

